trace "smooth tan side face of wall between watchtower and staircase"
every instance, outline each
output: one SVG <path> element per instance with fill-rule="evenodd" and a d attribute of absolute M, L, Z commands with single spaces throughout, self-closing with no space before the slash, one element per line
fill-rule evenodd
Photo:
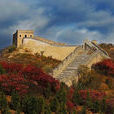
<path fill-rule="evenodd" d="M 50 45 L 39 40 L 27 38 L 23 40 L 23 48 L 30 50 L 33 54 L 44 52 L 45 56 L 52 56 L 52 58 L 62 61 L 75 50 L 76 46 Z"/>

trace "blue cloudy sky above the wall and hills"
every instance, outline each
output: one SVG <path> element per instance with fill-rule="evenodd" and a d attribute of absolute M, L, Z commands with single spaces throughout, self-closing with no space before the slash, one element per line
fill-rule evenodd
<path fill-rule="evenodd" d="M 16 29 L 69 44 L 114 43 L 114 0 L 0 0 L 0 47 Z"/>

